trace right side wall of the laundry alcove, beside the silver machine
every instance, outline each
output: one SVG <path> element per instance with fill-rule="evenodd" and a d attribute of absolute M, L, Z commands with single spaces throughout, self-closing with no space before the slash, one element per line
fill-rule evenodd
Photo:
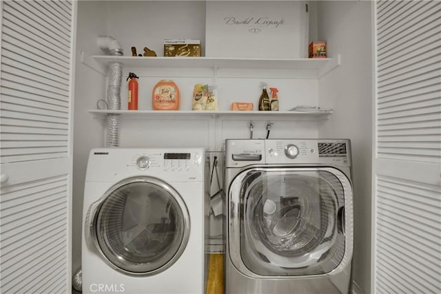
<path fill-rule="evenodd" d="M 320 105 L 334 108 L 319 127 L 319 137 L 351 139 L 355 240 L 354 290 L 371 293 L 371 3 L 320 1 L 318 38 L 328 56 L 341 54 L 342 65 L 319 81 Z"/>

